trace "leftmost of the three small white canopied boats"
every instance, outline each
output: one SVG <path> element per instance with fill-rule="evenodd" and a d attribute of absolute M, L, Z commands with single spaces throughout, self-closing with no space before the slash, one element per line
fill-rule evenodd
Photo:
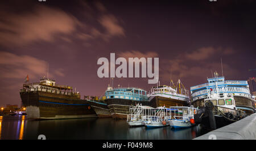
<path fill-rule="evenodd" d="M 142 106 L 141 104 L 130 107 L 129 114 L 127 115 L 127 123 L 129 126 L 144 126 L 142 117 L 147 114 L 147 110 L 149 109 L 154 108 L 150 106 Z"/>

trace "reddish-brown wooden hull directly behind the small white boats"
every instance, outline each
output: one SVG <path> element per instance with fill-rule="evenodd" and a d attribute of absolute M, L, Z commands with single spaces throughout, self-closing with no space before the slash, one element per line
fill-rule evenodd
<path fill-rule="evenodd" d="M 188 106 L 187 101 L 175 100 L 172 98 L 155 96 L 150 100 L 151 107 L 160 107 L 166 106 L 167 108 L 170 106 Z"/>

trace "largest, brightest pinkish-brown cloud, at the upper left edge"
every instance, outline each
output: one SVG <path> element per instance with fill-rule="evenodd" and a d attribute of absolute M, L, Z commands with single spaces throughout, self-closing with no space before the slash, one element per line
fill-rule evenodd
<path fill-rule="evenodd" d="M 54 40 L 57 34 L 70 34 L 81 23 L 66 12 L 46 6 L 36 6 L 31 13 L 1 12 L 0 44 L 24 45 L 34 41 Z"/>

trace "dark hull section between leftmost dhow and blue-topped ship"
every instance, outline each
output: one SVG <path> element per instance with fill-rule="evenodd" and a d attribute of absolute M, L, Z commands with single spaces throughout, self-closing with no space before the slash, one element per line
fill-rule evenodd
<path fill-rule="evenodd" d="M 92 106 L 93 110 L 96 112 L 98 118 L 111 118 L 111 113 L 106 103 L 90 100 L 88 100 L 88 102 L 90 106 Z"/>

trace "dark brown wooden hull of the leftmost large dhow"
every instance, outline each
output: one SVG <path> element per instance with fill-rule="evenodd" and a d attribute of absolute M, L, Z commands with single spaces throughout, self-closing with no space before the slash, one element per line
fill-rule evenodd
<path fill-rule="evenodd" d="M 95 118 L 96 113 L 86 100 L 76 96 L 48 92 L 20 92 L 28 119 Z"/>

